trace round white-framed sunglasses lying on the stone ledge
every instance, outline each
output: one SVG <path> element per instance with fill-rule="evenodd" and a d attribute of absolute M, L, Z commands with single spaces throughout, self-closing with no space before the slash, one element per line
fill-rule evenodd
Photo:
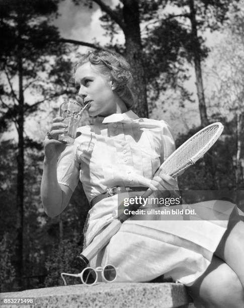
<path fill-rule="evenodd" d="M 106 282 L 113 282 L 117 277 L 116 268 L 109 264 L 104 267 L 86 267 L 84 270 L 79 274 L 68 274 L 68 273 L 61 273 L 61 277 L 63 279 L 64 285 L 67 285 L 63 275 L 79 277 L 82 280 L 82 283 L 86 285 L 94 285 L 98 281 L 98 272 L 102 273 L 102 277 Z"/>

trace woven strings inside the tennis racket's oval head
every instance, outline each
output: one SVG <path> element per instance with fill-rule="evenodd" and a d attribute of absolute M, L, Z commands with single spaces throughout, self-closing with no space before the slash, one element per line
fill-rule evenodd
<path fill-rule="evenodd" d="M 170 159 L 160 168 L 163 173 L 173 174 L 175 170 L 179 170 L 188 161 L 197 156 L 197 159 L 216 141 L 219 134 L 219 125 L 212 125 L 195 134 L 193 138 L 188 140 L 181 148 L 178 148 Z M 215 137 L 216 136 L 216 137 Z M 204 150 L 203 150 L 204 149 Z M 199 154 L 199 156 L 198 156 Z"/>

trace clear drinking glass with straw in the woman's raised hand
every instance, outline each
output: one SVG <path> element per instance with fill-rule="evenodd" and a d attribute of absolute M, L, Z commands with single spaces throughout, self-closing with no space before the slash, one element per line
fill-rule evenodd
<path fill-rule="evenodd" d="M 76 130 L 81 117 L 82 106 L 77 102 L 67 101 L 60 105 L 60 117 L 64 118 L 63 123 L 68 125 L 68 131 L 58 136 L 58 140 L 73 143 Z"/>

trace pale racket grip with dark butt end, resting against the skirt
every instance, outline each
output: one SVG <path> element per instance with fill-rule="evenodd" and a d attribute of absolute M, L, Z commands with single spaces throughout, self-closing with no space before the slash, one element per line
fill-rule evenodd
<path fill-rule="evenodd" d="M 86 260 L 86 263 L 88 264 L 87 261 L 90 262 L 98 254 L 98 252 L 108 244 L 112 236 L 118 232 L 121 224 L 122 223 L 120 220 L 113 220 L 98 236 L 96 236 L 93 242 L 84 249 L 79 257 L 83 261 Z"/>

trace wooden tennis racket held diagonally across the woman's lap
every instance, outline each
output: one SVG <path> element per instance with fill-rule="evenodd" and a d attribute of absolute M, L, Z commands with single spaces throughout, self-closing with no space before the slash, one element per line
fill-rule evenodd
<path fill-rule="evenodd" d="M 220 122 L 216 122 L 197 132 L 162 163 L 155 175 L 164 173 L 173 178 L 177 177 L 181 172 L 195 164 L 209 150 L 221 135 L 223 128 Z M 151 194 L 152 190 L 148 189 L 141 197 L 147 198 Z M 134 204 L 133 210 L 139 207 L 140 204 Z M 95 240 L 78 257 L 88 264 L 108 244 L 112 236 L 120 229 L 121 224 L 129 217 L 130 215 L 122 213 L 118 219 L 111 222 L 103 232 L 96 236 Z"/>

